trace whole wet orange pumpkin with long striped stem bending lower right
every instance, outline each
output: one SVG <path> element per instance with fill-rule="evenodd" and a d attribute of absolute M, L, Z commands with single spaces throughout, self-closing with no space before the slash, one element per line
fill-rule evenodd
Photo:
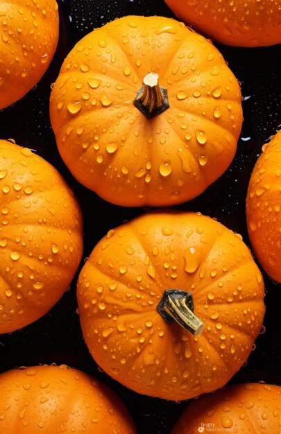
<path fill-rule="evenodd" d="M 227 383 L 264 317 L 262 275 L 241 236 L 187 212 L 154 211 L 110 230 L 80 271 L 77 295 L 101 368 L 172 400 Z"/>

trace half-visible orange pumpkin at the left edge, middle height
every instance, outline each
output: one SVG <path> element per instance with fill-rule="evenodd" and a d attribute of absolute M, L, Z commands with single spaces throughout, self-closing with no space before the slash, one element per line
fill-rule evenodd
<path fill-rule="evenodd" d="M 83 252 L 82 215 L 51 164 L 0 140 L 0 333 L 49 311 Z"/>

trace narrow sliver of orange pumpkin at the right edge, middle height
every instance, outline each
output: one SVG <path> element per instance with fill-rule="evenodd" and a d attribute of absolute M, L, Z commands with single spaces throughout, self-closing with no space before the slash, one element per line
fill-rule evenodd
<path fill-rule="evenodd" d="M 269 276 L 281 282 L 281 131 L 263 150 L 248 185 L 248 234 L 257 261 Z"/>

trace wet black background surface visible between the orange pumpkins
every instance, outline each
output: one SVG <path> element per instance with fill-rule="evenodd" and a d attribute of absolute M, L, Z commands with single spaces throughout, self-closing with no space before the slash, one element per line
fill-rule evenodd
<path fill-rule="evenodd" d="M 60 40 L 56 55 L 40 83 L 14 105 L 0 112 L 1 139 L 15 139 L 58 168 L 74 189 L 84 216 L 84 254 L 108 229 L 146 209 L 111 205 L 74 180 L 56 148 L 49 121 L 51 83 L 56 80 L 67 53 L 78 40 L 96 27 L 124 15 L 173 17 L 163 0 L 59 0 Z M 241 83 L 244 125 L 232 164 L 201 196 L 176 209 L 201 211 L 239 232 L 249 245 L 245 198 L 250 173 L 262 145 L 281 128 L 281 46 L 256 49 L 214 44 Z M 250 245 L 249 245 L 250 247 Z M 80 268 L 83 266 L 83 261 Z M 280 259 L 281 266 L 281 259 Z M 168 434 L 188 401 L 176 403 L 144 397 L 110 379 L 99 370 L 87 351 L 76 313 L 76 277 L 69 290 L 43 318 L 24 329 L 0 335 L 0 372 L 21 365 L 65 363 L 88 372 L 112 387 L 130 410 L 138 434 Z M 265 333 L 255 344 L 246 366 L 230 383 L 266 381 L 281 385 L 280 284 L 264 274 L 266 284 Z"/>

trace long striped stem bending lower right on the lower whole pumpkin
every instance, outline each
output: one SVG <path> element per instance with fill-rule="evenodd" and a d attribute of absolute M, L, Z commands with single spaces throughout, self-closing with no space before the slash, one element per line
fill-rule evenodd
<path fill-rule="evenodd" d="M 156 309 L 165 321 L 171 322 L 175 320 L 194 336 L 200 335 L 204 329 L 203 321 L 194 313 L 192 295 L 185 290 L 164 290 L 162 299 Z"/>

